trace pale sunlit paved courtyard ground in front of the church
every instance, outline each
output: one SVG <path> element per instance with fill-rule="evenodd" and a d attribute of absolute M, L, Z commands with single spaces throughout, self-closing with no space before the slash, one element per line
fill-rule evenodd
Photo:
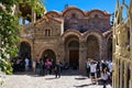
<path fill-rule="evenodd" d="M 65 73 L 65 74 L 64 74 Z M 61 78 L 54 75 L 35 76 L 23 73 L 3 77 L 0 88 L 102 88 L 102 85 L 91 85 L 86 76 L 77 74 L 77 70 L 64 70 Z M 107 85 L 107 88 L 111 88 Z"/>

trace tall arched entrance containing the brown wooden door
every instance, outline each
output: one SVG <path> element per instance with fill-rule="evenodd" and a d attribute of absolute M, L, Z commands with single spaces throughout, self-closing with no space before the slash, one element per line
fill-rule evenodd
<path fill-rule="evenodd" d="M 68 36 L 66 38 L 66 57 L 67 63 L 74 69 L 79 68 L 79 38 L 77 36 Z"/>

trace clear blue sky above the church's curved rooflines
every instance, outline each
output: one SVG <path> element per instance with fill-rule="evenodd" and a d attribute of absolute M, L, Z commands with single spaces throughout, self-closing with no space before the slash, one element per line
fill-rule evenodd
<path fill-rule="evenodd" d="M 117 0 L 45 0 L 44 6 L 47 11 L 62 11 L 64 10 L 65 4 L 70 4 L 76 6 L 85 11 L 100 9 L 112 13 L 114 12 L 116 1 Z"/>

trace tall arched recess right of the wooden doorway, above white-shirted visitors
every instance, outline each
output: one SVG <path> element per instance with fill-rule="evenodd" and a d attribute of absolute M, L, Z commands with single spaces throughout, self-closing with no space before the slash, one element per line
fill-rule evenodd
<path fill-rule="evenodd" d="M 99 61 L 99 43 L 98 38 L 94 35 L 89 35 L 87 38 L 87 57 Z"/>

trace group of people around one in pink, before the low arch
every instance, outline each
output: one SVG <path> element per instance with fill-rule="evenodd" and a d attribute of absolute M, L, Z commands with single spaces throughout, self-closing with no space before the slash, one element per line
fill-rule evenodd
<path fill-rule="evenodd" d="M 43 76 L 47 74 L 55 74 L 56 78 L 61 77 L 63 65 L 59 61 L 55 63 L 53 59 L 50 58 L 46 58 L 46 61 L 37 58 L 34 64 L 35 75 Z"/>

